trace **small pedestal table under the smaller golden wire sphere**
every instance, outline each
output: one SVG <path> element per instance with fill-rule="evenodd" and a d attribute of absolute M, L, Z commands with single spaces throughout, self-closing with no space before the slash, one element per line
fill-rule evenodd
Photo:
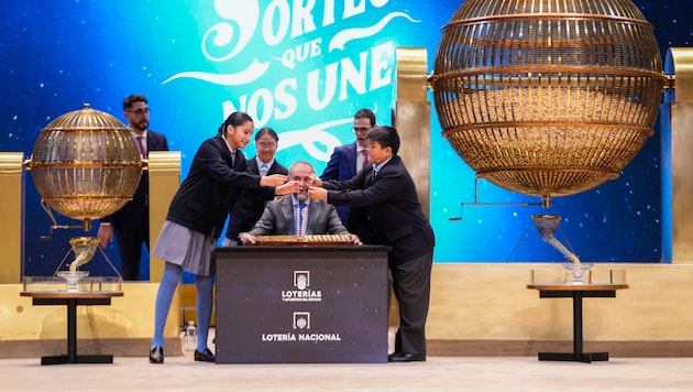
<path fill-rule="evenodd" d="M 32 297 L 34 305 L 67 306 L 67 355 L 42 357 L 41 364 L 61 363 L 113 363 L 113 356 L 77 355 L 77 305 L 110 305 L 122 292 L 21 292 Z"/>

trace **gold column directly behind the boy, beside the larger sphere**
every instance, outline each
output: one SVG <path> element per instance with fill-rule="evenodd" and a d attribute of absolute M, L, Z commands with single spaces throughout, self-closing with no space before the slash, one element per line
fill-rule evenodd
<path fill-rule="evenodd" d="M 431 104 L 427 99 L 426 48 L 397 47 L 395 112 L 402 145 L 399 155 L 409 170 L 424 211 L 430 206 Z"/>

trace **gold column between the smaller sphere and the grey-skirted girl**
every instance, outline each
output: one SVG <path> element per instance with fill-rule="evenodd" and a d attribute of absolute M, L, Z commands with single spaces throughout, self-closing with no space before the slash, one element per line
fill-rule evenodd
<path fill-rule="evenodd" d="M 147 168 L 150 171 L 150 246 L 154 249 L 166 220 L 170 200 L 180 186 L 180 151 L 150 151 Z M 150 249 L 150 282 L 161 282 L 164 260 L 153 255 L 152 249 Z"/>

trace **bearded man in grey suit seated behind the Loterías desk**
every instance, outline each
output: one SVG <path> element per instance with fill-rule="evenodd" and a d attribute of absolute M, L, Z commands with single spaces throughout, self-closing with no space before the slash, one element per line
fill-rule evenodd
<path fill-rule="evenodd" d="M 299 181 L 299 190 L 267 203 L 255 227 L 249 232 L 241 232 L 240 242 L 255 244 L 255 236 L 349 235 L 334 206 L 323 200 L 308 199 L 312 177 L 315 170 L 310 163 L 294 163 L 288 179 Z M 354 244 L 361 244 L 356 236 L 353 236 L 353 241 Z"/>

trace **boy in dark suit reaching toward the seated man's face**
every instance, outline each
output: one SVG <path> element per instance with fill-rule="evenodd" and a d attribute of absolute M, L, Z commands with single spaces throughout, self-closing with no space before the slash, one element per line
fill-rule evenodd
<path fill-rule="evenodd" d="M 391 362 L 426 360 L 426 318 L 431 287 L 435 237 L 416 186 L 402 159 L 399 135 L 392 127 L 369 133 L 372 167 L 348 181 L 314 182 L 308 195 L 336 206 L 370 207 L 374 238 L 392 248 L 388 268 L 399 301 L 399 329 Z M 322 187 L 320 187 L 322 186 Z M 365 242 L 365 241 L 364 241 Z"/>

